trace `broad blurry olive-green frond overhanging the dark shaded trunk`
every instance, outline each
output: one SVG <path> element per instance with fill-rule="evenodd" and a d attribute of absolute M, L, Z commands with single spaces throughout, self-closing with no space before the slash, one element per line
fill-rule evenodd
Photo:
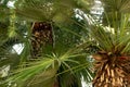
<path fill-rule="evenodd" d="M 51 20 L 55 23 L 65 23 L 74 15 L 74 10 L 82 8 L 82 4 L 90 5 L 83 0 L 18 0 L 15 10 L 18 15 L 24 15 L 30 21 Z"/>

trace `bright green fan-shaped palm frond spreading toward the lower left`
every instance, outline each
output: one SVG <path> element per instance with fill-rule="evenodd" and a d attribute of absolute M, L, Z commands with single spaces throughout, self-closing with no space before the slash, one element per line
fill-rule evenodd
<path fill-rule="evenodd" d="M 39 75 L 41 75 L 41 74 L 42 74 L 42 76 L 46 76 L 47 72 L 49 74 L 49 72 L 54 70 L 55 73 L 51 73 L 51 75 L 47 78 L 47 79 L 51 80 L 53 77 L 56 76 L 56 72 L 62 64 L 65 65 L 65 69 L 67 67 L 63 72 L 70 72 L 70 71 L 73 72 L 74 69 L 76 70 L 79 66 L 82 66 L 82 65 L 79 65 L 79 66 L 76 66 L 76 67 L 72 67 L 73 63 L 78 64 L 78 61 L 73 60 L 73 58 L 77 58 L 77 57 L 80 57 L 80 55 L 82 57 L 82 54 L 77 54 L 77 53 L 80 52 L 79 49 L 81 49 L 81 47 L 86 46 L 86 45 L 87 44 L 80 45 L 79 47 L 77 47 L 73 50 L 69 50 L 69 51 L 67 51 L 64 54 L 58 55 L 58 57 L 53 54 L 51 57 L 48 55 L 48 58 L 43 58 L 43 59 L 41 59 L 40 61 L 37 61 L 37 62 L 26 63 L 25 65 L 22 65 L 18 70 L 16 70 L 6 82 L 16 82 L 18 84 L 22 84 L 22 83 L 25 83 L 26 80 L 28 80 L 29 78 L 32 78 L 32 80 L 35 80 L 34 77 L 36 77 L 36 79 L 37 79 L 37 76 L 40 77 Z M 83 58 L 83 59 L 84 59 L 84 63 L 86 63 L 86 58 Z M 70 63 L 68 63 L 68 62 L 70 62 Z M 27 65 L 27 67 L 26 67 L 26 65 Z M 86 64 L 83 64 L 83 67 L 84 67 L 84 65 Z M 25 66 L 25 67 L 23 67 L 23 66 Z M 90 73 L 90 71 L 88 71 L 88 74 L 89 73 Z M 57 75 L 58 75 L 58 73 L 57 73 Z M 44 78 L 44 83 L 48 83 L 47 79 Z M 18 80 L 21 80 L 21 82 L 18 82 Z M 36 82 L 36 84 L 37 84 L 37 82 Z"/>

